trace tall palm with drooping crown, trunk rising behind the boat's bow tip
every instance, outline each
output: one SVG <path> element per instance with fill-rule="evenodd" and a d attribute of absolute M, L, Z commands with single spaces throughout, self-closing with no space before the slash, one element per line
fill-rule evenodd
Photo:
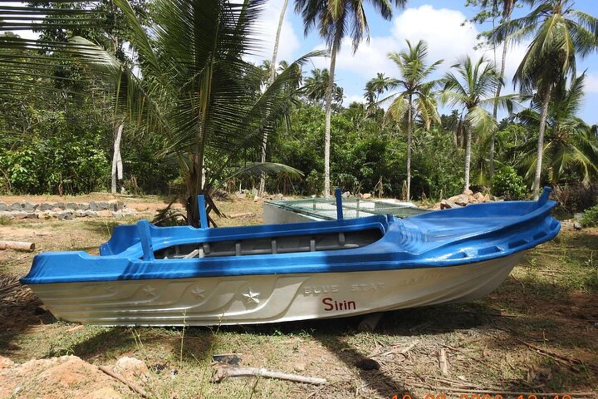
<path fill-rule="evenodd" d="M 567 75 L 575 77 L 577 55 L 585 57 L 598 47 L 598 19 L 572 7 L 572 0 L 546 0 L 527 16 L 502 23 L 490 35 L 495 42 L 505 39 L 520 42 L 533 36 L 514 82 L 523 93 L 536 92 L 542 103 L 533 181 L 535 199 L 539 195 L 544 132 L 552 92 Z"/>

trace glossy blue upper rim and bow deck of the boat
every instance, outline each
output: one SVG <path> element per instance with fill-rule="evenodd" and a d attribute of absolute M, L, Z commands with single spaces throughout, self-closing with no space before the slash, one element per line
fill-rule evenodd
<path fill-rule="evenodd" d="M 363 230 L 364 226 L 376 226 L 383 229 L 383 236 L 369 245 L 352 249 L 168 260 L 141 260 L 139 258 L 142 254 L 141 244 L 137 239 L 135 245 L 130 245 L 126 251 L 121 251 L 118 254 L 95 256 L 77 251 L 48 252 L 36 255 L 32 269 L 28 276 L 22 279 L 22 282 L 23 284 L 49 284 L 124 279 L 363 272 L 459 266 L 507 257 L 556 236 L 560 229 L 560 223 L 550 215 L 556 202 L 548 201 L 547 196 L 548 193 L 545 191 L 545 195 L 543 194 L 542 199 L 538 202 L 517 201 L 470 205 L 467 210 L 466 208 L 447 209 L 418 215 L 404 221 L 383 215 L 374 215 L 353 220 L 219 229 L 195 229 L 187 226 L 150 227 L 152 242 L 156 244 L 154 251 L 160 249 L 160 245 L 174 245 L 175 241 L 189 242 L 190 238 L 193 238 L 193 242 L 202 242 L 205 237 L 223 240 L 224 237 L 228 239 L 231 237 L 240 239 L 240 236 L 255 238 L 256 233 L 263 237 L 271 237 L 273 234 L 280 236 L 283 232 L 297 234 L 297 227 L 301 228 L 299 231 L 309 230 L 310 234 L 317 234 L 322 231 L 339 232 L 339 228 Z M 438 220 L 445 220 L 447 223 L 450 223 L 451 219 L 475 220 L 475 218 L 471 218 L 471 215 L 480 214 L 487 217 L 487 214 L 492 211 L 499 211 L 500 215 L 496 220 L 501 222 L 495 224 L 492 229 L 461 234 L 459 239 L 441 242 L 427 251 L 410 252 L 401 247 L 403 245 L 400 242 L 400 239 L 403 238 L 401 234 L 413 233 L 416 230 L 413 228 L 411 228 L 413 231 L 405 230 L 407 229 L 405 226 L 408 224 L 417 226 L 417 223 L 426 223 L 426 220 L 428 223 L 429 220 L 432 220 L 436 224 L 439 223 Z M 501 220 L 501 217 L 509 214 L 509 211 L 515 212 L 515 217 Z M 468 217 L 464 217 L 465 215 Z M 528 226 L 530 224 L 531 227 Z M 111 237 L 111 241 L 115 244 L 114 249 L 120 248 L 119 245 L 122 244 L 118 244 L 118 239 L 115 237 L 118 237 L 119 234 L 126 234 L 134 228 L 134 225 L 123 226 L 119 230 L 121 233 L 118 234 L 115 229 L 115 234 Z M 233 234 L 236 230 L 241 230 L 243 234 Z M 172 239 L 172 236 L 167 235 L 169 232 L 184 232 L 190 236 Z M 200 236 L 204 238 L 202 239 Z M 130 243 L 131 237 L 126 238 Z M 106 245 L 111 241 L 104 244 L 104 251 L 106 251 Z M 490 250 L 489 248 L 492 247 L 498 248 L 498 251 Z"/>

